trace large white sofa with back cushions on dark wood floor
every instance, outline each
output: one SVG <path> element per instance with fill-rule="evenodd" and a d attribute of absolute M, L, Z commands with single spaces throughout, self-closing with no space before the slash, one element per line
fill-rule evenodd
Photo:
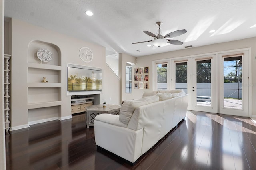
<path fill-rule="evenodd" d="M 182 90 L 153 91 L 141 99 L 124 101 L 120 115 L 95 117 L 96 145 L 135 164 L 184 120 L 187 107 L 188 95 Z"/>

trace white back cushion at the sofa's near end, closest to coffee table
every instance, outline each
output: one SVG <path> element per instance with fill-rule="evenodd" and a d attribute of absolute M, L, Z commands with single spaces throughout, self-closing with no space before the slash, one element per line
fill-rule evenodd
<path fill-rule="evenodd" d="M 136 107 L 159 101 L 158 95 L 150 95 L 136 100 L 126 100 L 121 106 L 119 121 L 128 124 Z"/>

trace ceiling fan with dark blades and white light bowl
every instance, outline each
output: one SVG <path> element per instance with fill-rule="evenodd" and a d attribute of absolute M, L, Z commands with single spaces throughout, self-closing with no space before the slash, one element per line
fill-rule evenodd
<path fill-rule="evenodd" d="M 144 42 L 152 42 L 152 44 L 156 47 L 162 47 L 162 46 L 166 45 L 166 43 L 170 43 L 173 45 L 182 45 L 183 42 L 181 42 L 179 40 L 173 40 L 173 39 L 169 40 L 168 38 L 172 38 L 172 37 L 176 37 L 176 36 L 185 34 L 187 32 L 187 30 L 185 30 L 185 29 L 177 30 L 174 32 L 170 32 L 169 34 L 166 34 L 165 36 L 162 36 L 160 34 L 160 25 L 162 25 L 162 24 L 163 24 L 163 22 L 161 22 L 161 21 L 156 22 L 156 25 L 158 25 L 158 35 L 153 34 L 152 32 L 149 32 L 149 31 L 143 31 L 147 35 L 154 37 L 154 40 L 148 40 L 148 41 L 144 41 Z M 132 43 L 132 44 L 144 43 L 144 42 L 136 42 L 136 43 Z"/>

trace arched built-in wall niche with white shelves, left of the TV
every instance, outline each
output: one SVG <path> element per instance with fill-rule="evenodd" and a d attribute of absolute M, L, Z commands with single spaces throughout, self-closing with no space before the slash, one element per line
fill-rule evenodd
<path fill-rule="evenodd" d="M 37 57 L 39 49 L 48 49 L 52 53 L 49 62 Z M 33 41 L 28 47 L 28 124 L 50 121 L 60 117 L 61 111 L 61 53 L 51 43 Z M 46 77 L 46 83 L 42 83 Z"/>

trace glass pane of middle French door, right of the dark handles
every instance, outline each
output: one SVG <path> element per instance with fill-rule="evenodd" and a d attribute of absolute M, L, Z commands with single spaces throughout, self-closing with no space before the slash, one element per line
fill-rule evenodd
<path fill-rule="evenodd" d="M 196 61 L 196 105 L 212 106 L 212 63 L 210 59 Z M 194 87 L 193 87 L 194 90 Z"/>

